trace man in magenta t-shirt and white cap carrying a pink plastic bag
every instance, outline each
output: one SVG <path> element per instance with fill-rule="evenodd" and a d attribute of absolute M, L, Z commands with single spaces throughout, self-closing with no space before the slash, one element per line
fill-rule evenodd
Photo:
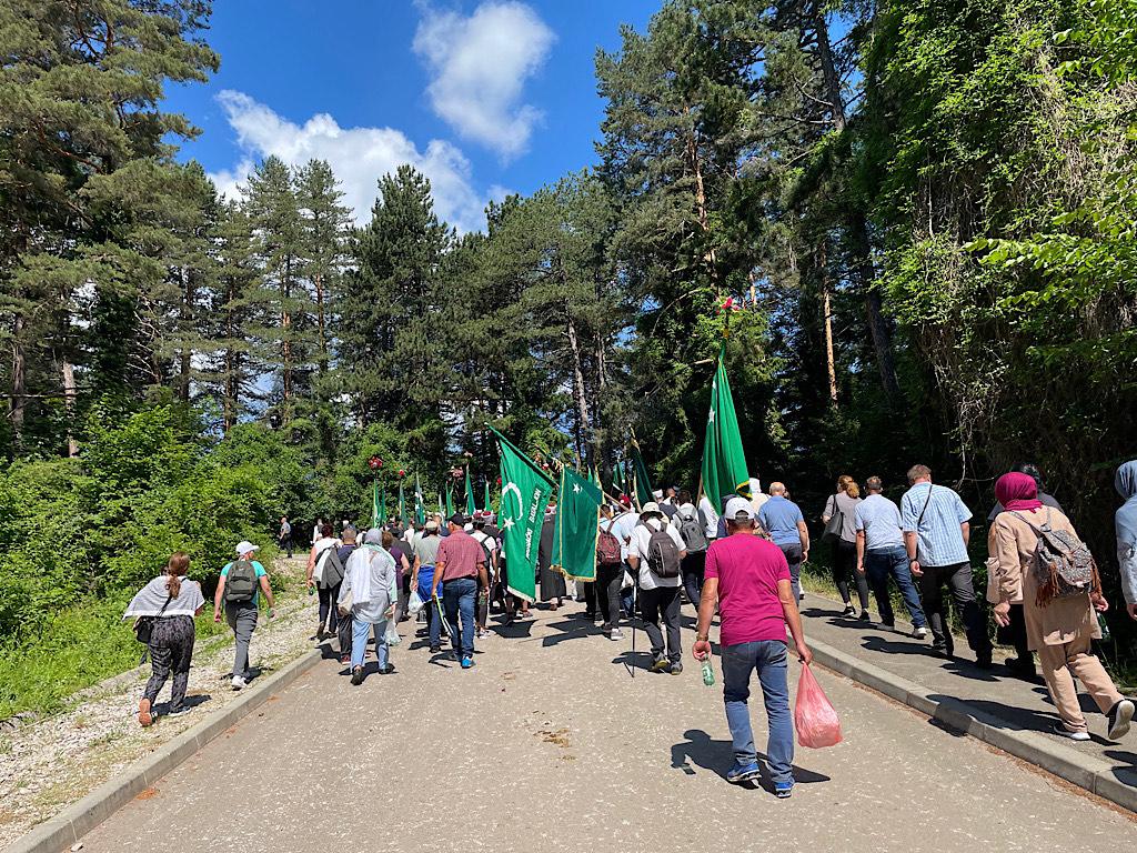
<path fill-rule="evenodd" d="M 777 545 L 754 535 L 754 507 L 731 498 L 723 512 L 729 536 L 707 549 L 695 657 L 711 654 L 711 619 L 719 604 L 723 701 L 735 742 L 735 767 L 727 781 L 744 782 L 761 775 L 750 729 L 750 672 L 757 671 L 770 723 L 766 761 L 774 793 L 794 790 L 794 721 L 789 714 L 786 627 L 794 636 L 802 663 L 813 654 L 805 645 L 797 596 L 790 585 L 789 563 Z"/>

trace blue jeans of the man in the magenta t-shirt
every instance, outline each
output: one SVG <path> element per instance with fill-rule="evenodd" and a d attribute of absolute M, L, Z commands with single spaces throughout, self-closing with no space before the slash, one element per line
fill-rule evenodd
<path fill-rule="evenodd" d="M 727 704 L 727 724 L 735 742 L 735 763 L 742 765 L 758 760 L 747 705 L 750 672 L 757 670 L 770 726 L 766 763 L 775 784 L 794 781 L 794 721 L 789 715 L 787 657 L 786 644 L 781 640 L 756 640 L 722 647 L 722 697 Z"/>

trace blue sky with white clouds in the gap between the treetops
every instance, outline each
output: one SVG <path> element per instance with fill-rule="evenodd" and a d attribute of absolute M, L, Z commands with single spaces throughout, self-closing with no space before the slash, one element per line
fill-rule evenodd
<path fill-rule="evenodd" d="M 596 162 L 597 48 L 644 30 L 648 0 L 223 0 L 221 72 L 173 86 L 186 143 L 230 192 L 276 154 L 332 162 L 365 215 L 381 172 L 410 160 L 451 223 L 479 227 L 506 191 L 529 193 Z"/>

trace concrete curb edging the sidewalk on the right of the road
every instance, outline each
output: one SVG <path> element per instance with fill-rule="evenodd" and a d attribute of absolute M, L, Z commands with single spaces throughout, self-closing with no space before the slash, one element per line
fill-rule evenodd
<path fill-rule="evenodd" d="M 1010 723 L 954 698 L 931 698 L 915 681 L 861 661 L 832 646 L 811 639 L 814 661 L 877 693 L 915 709 L 930 719 L 990 744 L 1103 800 L 1137 812 L 1137 788 L 1120 781 L 1113 767 L 1036 731 L 1007 728 Z"/>

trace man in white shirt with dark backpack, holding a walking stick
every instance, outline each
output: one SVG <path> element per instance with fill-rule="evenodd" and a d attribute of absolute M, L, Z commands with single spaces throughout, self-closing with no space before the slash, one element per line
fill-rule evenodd
<path fill-rule="evenodd" d="M 686 554 L 687 546 L 659 505 L 655 502 L 645 504 L 640 523 L 632 531 L 628 546 L 628 564 L 633 574 L 639 575 L 640 615 L 652 641 L 653 672 L 678 676 L 683 671 L 679 640 L 679 588 L 682 582 L 680 566 Z M 661 618 L 667 629 L 666 656 Z"/>

